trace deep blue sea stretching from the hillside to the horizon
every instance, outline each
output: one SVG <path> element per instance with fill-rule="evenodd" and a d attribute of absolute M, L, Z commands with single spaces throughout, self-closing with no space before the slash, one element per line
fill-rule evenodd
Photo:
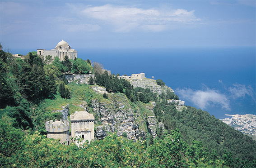
<path fill-rule="evenodd" d="M 161 79 L 185 105 L 216 118 L 256 115 L 255 47 L 76 50 L 79 58 L 99 62 L 112 74 L 143 72 Z"/>

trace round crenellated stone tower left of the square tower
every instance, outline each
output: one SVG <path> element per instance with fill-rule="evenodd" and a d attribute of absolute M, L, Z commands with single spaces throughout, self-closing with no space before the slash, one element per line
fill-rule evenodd
<path fill-rule="evenodd" d="M 64 145 L 70 145 L 70 121 L 57 119 L 47 121 L 45 123 L 45 128 L 47 131 L 47 138 L 61 139 L 60 143 Z"/>

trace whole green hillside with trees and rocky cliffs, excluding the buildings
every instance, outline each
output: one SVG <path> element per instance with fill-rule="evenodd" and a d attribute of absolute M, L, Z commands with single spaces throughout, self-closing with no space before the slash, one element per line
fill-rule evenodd
<path fill-rule="evenodd" d="M 107 73 L 80 80 L 56 72 L 79 62 L 91 69 L 89 61 L 55 60 L 52 74 L 32 53 L 23 61 L 0 51 L 0 58 L 1 167 L 256 167 L 256 141 L 185 106 L 156 80 Z M 94 115 L 97 141 L 78 148 L 45 137 L 46 121 L 75 111 Z"/>

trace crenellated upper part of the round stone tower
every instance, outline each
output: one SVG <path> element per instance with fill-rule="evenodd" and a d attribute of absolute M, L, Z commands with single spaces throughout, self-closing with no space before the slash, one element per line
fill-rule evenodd
<path fill-rule="evenodd" d="M 50 120 L 45 123 L 45 128 L 47 132 L 51 133 L 61 133 L 69 131 L 70 121 L 66 119 L 61 119 L 60 121 L 58 121 L 57 119 L 55 119 L 55 121 L 53 122 L 53 120 Z"/>

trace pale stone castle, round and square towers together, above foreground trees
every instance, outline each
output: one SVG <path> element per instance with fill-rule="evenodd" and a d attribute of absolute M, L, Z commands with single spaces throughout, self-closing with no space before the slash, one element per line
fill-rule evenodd
<path fill-rule="evenodd" d="M 89 142 L 94 140 L 94 117 L 86 111 L 75 111 L 74 115 L 70 115 L 71 121 L 71 137 L 80 138 L 81 141 L 74 141 L 76 145 L 83 144 L 86 140 Z M 70 122 L 69 120 L 47 121 L 45 124 L 47 138 L 61 139 L 60 143 L 70 144 Z"/>

